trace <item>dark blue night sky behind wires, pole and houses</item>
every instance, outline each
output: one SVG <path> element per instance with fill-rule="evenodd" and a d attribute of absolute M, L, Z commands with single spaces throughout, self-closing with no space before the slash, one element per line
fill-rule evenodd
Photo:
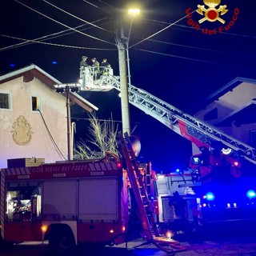
<path fill-rule="evenodd" d="M 205 0 L 205 10 L 210 8 L 209 2 Z M 127 33 L 130 20 L 126 19 L 125 10 L 131 3 L 120 0 L 2 0 L 0 74 L 34 63 L 63 83 L 77 82 L 79 62 L 86 54 L 99 61 L 108 58 L 114 74 L 118 75 L 114 20 L 124 18 Z M 202 0 L 137 3 L 142 13 L 133 22 L 129 51 L 134 86 L 193 114 L 194 106 L 233 78 L 256 78 L 256 2 L 222 0 L 219 5 L 226 5 L 224 9 L 228 11 L 223 15 L 220 12 L 219 18 L 225 24 L 219 20 L 198 23 L 204 16 L 194 10 L 204 5 Z M 193 12 L 192 17 L 185 17 L 186 10 Z M 71 27 L 82 33 L 70 30 Z M 142 42 L 144 38 L 149 39 Z M 82 95 L 99 107 L 98 118 L 108 119 L 112 114 L 114 120 L 121 120 L 118 92 L 82 92 Z M 134 106 L 130 107 L 130 116 L 131 128 L 136 127 L 134 134 L 142 141 L 142 159 L 150 160 L 154 170 L 186 169 L 190 142 Z M 81 118 L 88 116 L 80 109 L 74 112 L 74 117 L 79 140 L 81 134 L 86 134 L 86 122 Z"/>

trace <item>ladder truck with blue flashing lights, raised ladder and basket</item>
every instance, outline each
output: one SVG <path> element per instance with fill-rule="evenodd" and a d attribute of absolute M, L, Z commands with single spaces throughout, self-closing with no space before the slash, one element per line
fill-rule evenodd
<path fill-rule="evenodd" d="M 113 72 L 94 80 L 90 68 L 80 70 L 81 90 L 121 90 Z M 173 220 L 167 202 L 174 190 L 187 198 L 190 220 L 198 216 L 197 221 L 207 223 L 256 216 L 256 150 L 252 146 L 133 85 L 129 86 L 129 102 L 201 151 L 190 158 L 188 170 L 158 175 L 160 222 Z"/>

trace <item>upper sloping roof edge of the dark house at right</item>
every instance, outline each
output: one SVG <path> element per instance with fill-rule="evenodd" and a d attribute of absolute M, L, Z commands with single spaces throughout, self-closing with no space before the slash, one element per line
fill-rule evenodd
<path fill-rule="evenodd" d="M 218 100 L 218 98 L 222 97 L 228 91 L 233 90 L 235 87 L 241 85 L 242 82 L 249 82 L 249 83 L 253 83 L 253 84 L 256 85 L 256 80 L 255 79 L 241 78 L 241 77 L 234 78 L 233 80 L 228 82 L 225 86 L 222 86 L 220 89 L 216 90 L 213 94 L 210 94 L 209 97 L 202 100 L 202 102 L 200 102 L 197 106 L 194 107 L 192 112 L 197 113 L 199 110 L 204 109 L 211 102 L 214 102 L 215 100 Z"/>

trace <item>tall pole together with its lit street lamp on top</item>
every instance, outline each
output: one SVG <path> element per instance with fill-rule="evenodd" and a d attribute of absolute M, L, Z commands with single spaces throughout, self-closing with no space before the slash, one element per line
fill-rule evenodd
<path fill-rule="evenodd" d="M 140 10 L 130 9 L 129 14 L 132 15 L 130 21 L 130 28 L 128 36 L 125 37 L 122 20 L 119 18 L 116 27 L 116 43 L 118 47 L 118 63 L 119 63 L 119 76 L 120 76 L 120 95 L 121 95 L 121 109 L 122 109 L 122 132 L 130 134 L 130 110 L 129 110 L 129 90 L 127 83 L 130 86 L 130 59 L 129 59 L 129 40 L 131 26 L 134 21 L 134 16 L 139 14 Z"/>

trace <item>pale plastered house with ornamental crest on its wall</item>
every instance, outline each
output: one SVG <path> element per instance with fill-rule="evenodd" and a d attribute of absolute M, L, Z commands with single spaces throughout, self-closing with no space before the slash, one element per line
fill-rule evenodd
<path fill-rule="evenodd" d="M 34 64 L 0 77 L 0 167 L 13 158 L 67 158 L 67 98 L 56 92 L 57 84 Z M 76 93 L 69 98 L 70 105 L 98 110 Z"/>

